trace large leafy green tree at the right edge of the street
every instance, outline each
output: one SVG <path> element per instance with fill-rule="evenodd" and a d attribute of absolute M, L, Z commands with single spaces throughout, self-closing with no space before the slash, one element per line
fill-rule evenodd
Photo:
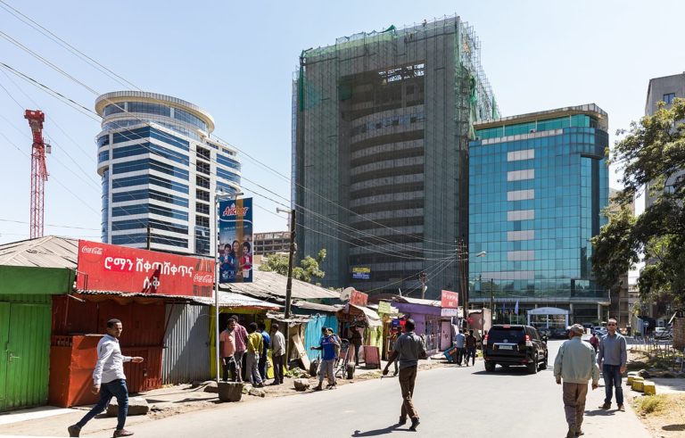
<path fill-rule="evenodd" d="M 600 285 L 612 288 L 618 278 L 640 261 L 648 260 L 638 286 L 640 297 L 670 296 L 685 303 L 685 100 L 671 108 L 660 103 L 653 116 L 631 122 L 616 142 L 613 162 L 623 170 L 618 209 L 607 211 L 608 224 L 593 239 L 592 264 Z M 608 151 L 607 151 L 608 153 Z M 655 199 L 639 216 L 629 205 L 646 185 Z"/>

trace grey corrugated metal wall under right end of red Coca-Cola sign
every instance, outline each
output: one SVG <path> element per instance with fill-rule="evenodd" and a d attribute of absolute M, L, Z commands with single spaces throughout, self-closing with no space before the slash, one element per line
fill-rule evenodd
<path fill-rule="evenodd" d="M 210 378 L 210 307 L 167 304 L 161 359 L 163 384 Z"/>

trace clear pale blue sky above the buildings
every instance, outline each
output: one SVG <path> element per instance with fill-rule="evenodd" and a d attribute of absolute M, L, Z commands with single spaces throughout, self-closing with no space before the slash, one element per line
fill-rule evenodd
<path fill-rule="evenodd" d="M 617 128 L 628 128 L 643 115 L 648 80 L 685 70 L 679 25 L 685 3 L 677 1 L 4 1 L 137 87 L 205 108 L 219 137 L 286 176 L 298 55 L 304 48 L 333 44 L 336 37 L 456 12 L 480 37 L 483 68 L 503 115 L 597 103 L 609 114 L 612 144 Z M 0 30 L 97 92 L 124 88 L 2 9 Z M 0 61 L 94 106 L 92 92 L 2 38 Z M 0 243 L 29 235 L 31 142 L 24 107 L 47 114 L 45 133 L 53 144 L 45 234 L 97 240 L 99 122 L 3 69 L 0 85 L 19 102 L 0 88 Z M 289 199 L 284 178 L 242 159 L 246 178 Z M 612 170 L 611 186 L 618 186 L 615 180 Z M 255 184 L 244 186 L 255 198 L 255 230 L 285 229 L 276 203 L 261 195 L 268 193 Z M 275 194 L 268 197 L 288 203 Z"/>

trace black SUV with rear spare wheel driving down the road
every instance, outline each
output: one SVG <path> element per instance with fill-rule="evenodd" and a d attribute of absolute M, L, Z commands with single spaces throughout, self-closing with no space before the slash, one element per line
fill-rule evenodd
<path fill-rule="evenodd" d="M 524 365 L 535 374 L 547 368 L 547 343 L 532 326 L 492 326 L 483 340 L 485 370 L 494 371 L 495 365 Z"/>

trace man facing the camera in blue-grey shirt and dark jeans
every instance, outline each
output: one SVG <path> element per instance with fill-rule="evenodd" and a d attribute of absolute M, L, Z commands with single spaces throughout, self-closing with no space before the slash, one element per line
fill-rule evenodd
<path fill-rule="evenodd" d="M 611 408 L 612 393 L 615 390 L 618 410 L 625 411 L 621 376 L 625 373 L 627 361 L 628 352 L 626 351 L 625 338 L 616 332 L 616 320 L 610 318 L 607 322 L 607 335 L 602 336 L 597 354 L 597 364 L 602 369 L 602 376 L 604 376 L 605 391 L 604 404 L 599 407 L 600 409 Z"/>

